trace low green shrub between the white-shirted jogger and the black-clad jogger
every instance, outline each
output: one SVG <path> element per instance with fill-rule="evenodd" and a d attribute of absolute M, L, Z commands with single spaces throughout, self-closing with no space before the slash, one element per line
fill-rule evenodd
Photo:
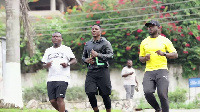
<path fill-rule="evenodd" d="M 66 99 L 68 101 L 84 101 L 86 98 L 84 87 L 75 86 L 67 89 Z"/>

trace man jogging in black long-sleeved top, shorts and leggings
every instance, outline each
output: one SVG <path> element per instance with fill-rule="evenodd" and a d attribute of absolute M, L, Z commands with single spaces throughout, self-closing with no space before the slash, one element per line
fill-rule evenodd
<path fill-rule="evenodd" d="M 85 80 L 85 92 L 94 112 L 99 112 L 96 94 L 103 98 L 106 112 L 111 112 L 111 81 L 108 60 L 113 58 L 113 49 L 108 40 L 101 37 L 101 27 L 92 26 L 93 38 L 84 47 L 82 60 L 87 64 L 88 72 Z"/>

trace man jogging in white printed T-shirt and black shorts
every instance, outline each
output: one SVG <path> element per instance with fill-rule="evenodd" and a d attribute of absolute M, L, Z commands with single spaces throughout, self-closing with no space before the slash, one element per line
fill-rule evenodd
<path fill-rule="evenodd" d="M 52 35 L 53 46 L 46 49 L 42 58 L 43 66 L 49 70 L 47 91 L 51 105 L 59 112 L 65 110 L 65 93 L 70 80 L 70 65 L 76 58 L 70 47 L 62 45 L 62 35 L 55 32 Z"/>

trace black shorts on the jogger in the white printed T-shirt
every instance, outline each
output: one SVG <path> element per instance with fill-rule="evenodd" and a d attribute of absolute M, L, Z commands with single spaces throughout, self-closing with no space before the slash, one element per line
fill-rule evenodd
<path fill-rule="evenodd" d="M 57 99 L 58 97 L 65 98 L 67 87 L 68 87 L 68 82 L 64 81 L 47 82 L 47 92 L 49 100 Z"/>

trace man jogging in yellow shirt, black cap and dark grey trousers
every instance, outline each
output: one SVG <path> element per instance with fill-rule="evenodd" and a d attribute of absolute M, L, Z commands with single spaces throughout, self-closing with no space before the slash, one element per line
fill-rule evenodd
<path fill-rule="evenodd" d="M 168 38 L 159 35 L 159 22 L 151 20 L 145 26 L 148 27 L 150 36 L 142 41 L 139 56 L 142 63 L 146 62 L 143 78 L 144 95 L 156 112 L 169 112 L 167 58 L 178 58 L 178 54 L 172 42 Z M 156 88 L 161 108 L 153 94 Z"/>

